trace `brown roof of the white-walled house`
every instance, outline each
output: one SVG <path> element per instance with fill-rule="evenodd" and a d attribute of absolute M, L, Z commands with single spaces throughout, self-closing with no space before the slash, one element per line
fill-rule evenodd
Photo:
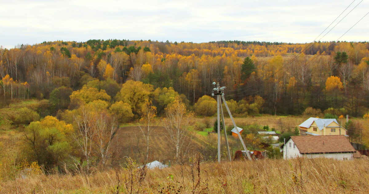
<path fill-rule="evenodd" d="M 344 135 L 291 136 L 300 154 L 342 153 L 356 150 Z"/>

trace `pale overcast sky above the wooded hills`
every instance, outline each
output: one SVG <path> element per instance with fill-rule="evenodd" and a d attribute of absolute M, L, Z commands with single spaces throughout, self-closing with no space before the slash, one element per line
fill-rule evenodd
<path fill-rule="evenodd" d="M 352 2 L 0 0 L 0 45 L 14 48 L 44 41 L 85 42 L 89 39 L 307 43 Z M 316 40 L 337 40 L 368 11 L 369 0 L 355 0 L 328 30 L 344 19 Z M 369 14 L 339 40 L 369 41 L 368 32 Z"/>

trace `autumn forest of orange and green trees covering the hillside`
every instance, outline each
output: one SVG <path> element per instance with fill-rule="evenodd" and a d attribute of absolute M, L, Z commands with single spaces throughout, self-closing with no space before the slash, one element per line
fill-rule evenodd
<path fill-rule="evenodd" d="M 181 95 L 192 106 L 221 78 L 226 99 L 238 104 L 235 114 L 300 115 L 312 107 L 356 117 L 369 108 L 368 48 L 367 42 L 44 42 L 0 49 L 0 96 L 4 105 L 49 99 L 49 114 L 56 115 L 73 107 L 78 93 L 128 103 L 121 88 L 131 80 L 161 113 L 168 104 L 162 94 Z M 250 107 L 255 96 L 261 107 Z"/>

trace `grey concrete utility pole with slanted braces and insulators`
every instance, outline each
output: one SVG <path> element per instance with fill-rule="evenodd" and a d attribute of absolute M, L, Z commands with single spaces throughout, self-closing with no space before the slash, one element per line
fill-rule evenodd
<path fill-rule="evenodd" d="M 211 96 L 214 96 L 214 95 L 217 96 L 217 108 L 218 108 L 218 110 L 217 110 L 217 113 L 218 113 L 218 115 L 217 115 L 217 121 L 218 121 L 218 162 L 220 163 L 220 108 L 222 107 L 222 103 L 221 103 L 222 100 L 224 102 L 225 108 L 227 109 L 228 115 L 230 116 L 230 118 L 232 120 L 233 126 L 236 129 L 236 132 L 238 134 L 239 140 L 241 141 L 242 147 L 244 147 L 244 150 L 246 151 L 246 156 L 249 160 L 251 160 L 251 156 L 249 154 L 249 151 L 246 148 L 244 140 L 242 140 L 241 134 L 238 131 L 238 127 L 236 126 L 236 123 L 234 122 L 231 111 L 228 108 L 227 102 L 225 101 L 225 98 L 224 98 L 225 86 L 220 87 L 219 81 L 220 81 L 220 79 L 217 79 L 217 82 L 213 82 L 213 85 L 216 85 L 216 87 L 213 89 L 212 94 L 211 94 Z M 223 119 L 223 128 L 224 128 L 223 130 L 224 130 L 225 142 L 226 142 L 226 145 L 227 145 L 228 157 L 229 157 L 230 161 L 232 161 L 231 154 L 230 154 L 230 151 L 229 151 L 229 146 L 228 146 L 227 131 L 225 129 L 223 109 L 221 110 L 221 113 L 222 113 L 222 119 Z"/>

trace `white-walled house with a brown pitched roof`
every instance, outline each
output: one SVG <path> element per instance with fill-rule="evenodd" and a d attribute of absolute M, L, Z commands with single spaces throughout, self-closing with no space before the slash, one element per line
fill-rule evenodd
<path fill-rule="evenodd" d="M 291 136 L 283 144 L 283 158 L 334 158 L 348 160 L 356 151 L 344 135 Z"/>

